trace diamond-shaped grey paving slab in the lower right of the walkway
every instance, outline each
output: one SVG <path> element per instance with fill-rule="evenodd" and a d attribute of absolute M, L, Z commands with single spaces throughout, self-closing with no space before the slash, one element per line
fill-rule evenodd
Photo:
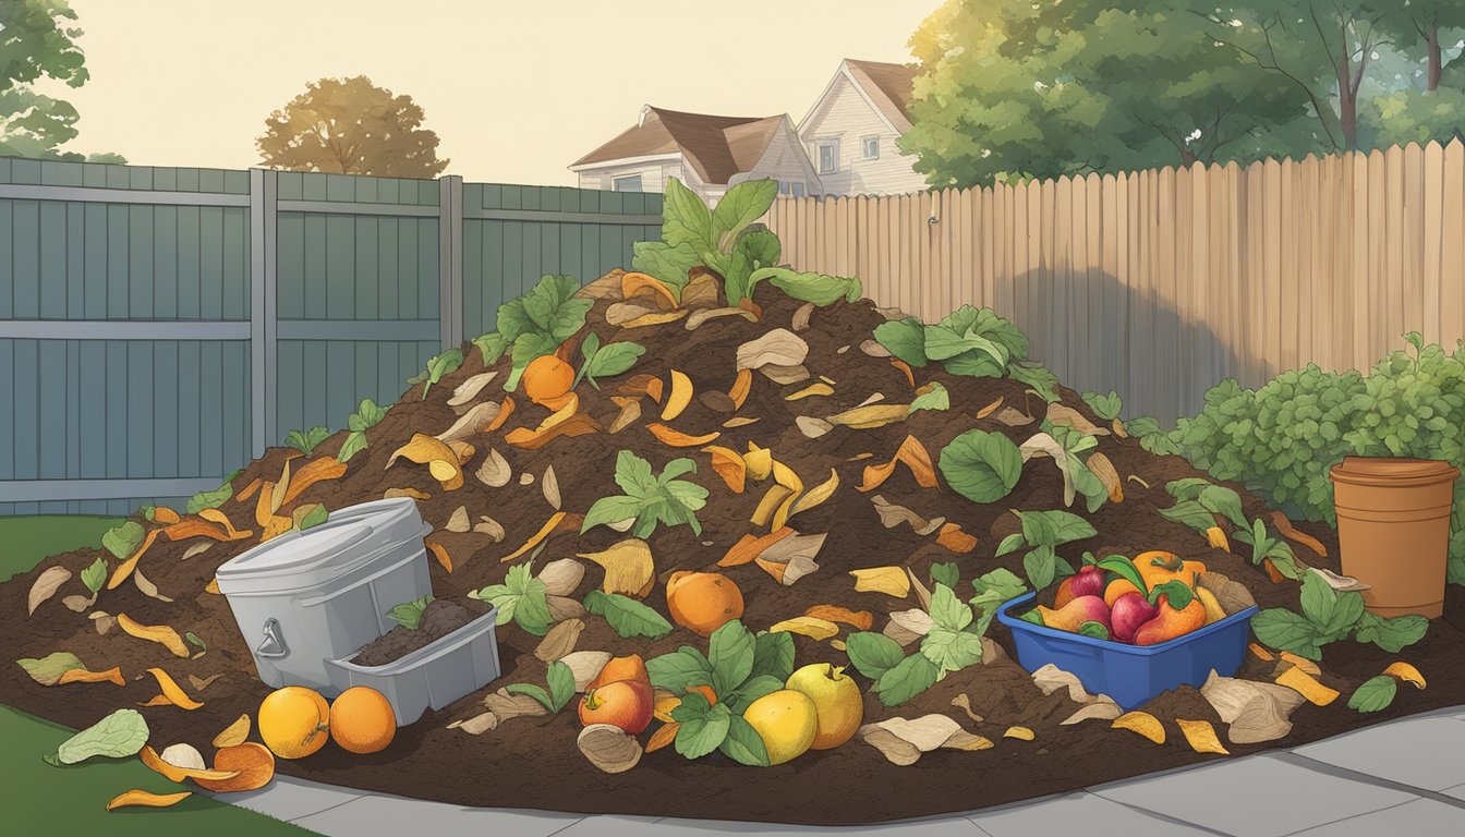
<path fill-rule="evenodd" d="M 1282 837 L 1418 799 L 1266 755 L 1091 790 L 1112 802 L 1247 837 Z"/>

